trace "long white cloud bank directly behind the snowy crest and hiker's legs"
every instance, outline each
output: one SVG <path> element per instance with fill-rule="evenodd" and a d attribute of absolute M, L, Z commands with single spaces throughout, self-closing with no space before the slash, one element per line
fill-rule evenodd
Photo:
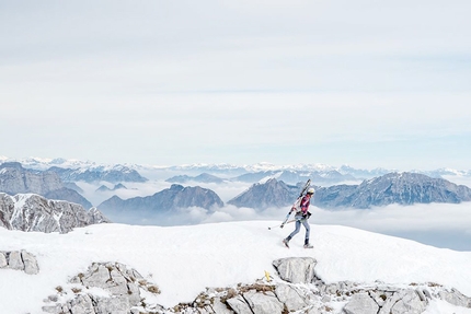
<path fill-rule="evenodd" d="M 369 210 L 323 210 L 311 207 L 312 217 L 309 222 L 311 232 L 315 225 L 345 225 L 371 232 L 410 239 L 437 247 L 458 251 L 471 251 L 471 212 L 470 203 L 430 203 L 415 206 L 391 205 Z M 282 223 L 289 209 L 269 208 L 256 211 L 252 208 L 225 206 L 215 211 L 203 208 L 181 209 L 165 217 L 138 213 L 138 217 L 117 217 L 119 222 L 136 224 L 199 224 L 228 221 L 266 220 L 267 228 L 276 222 Z M 292 219 L 292 216 L 290 217 Z M 287 226 L 287 230 L 291 225 Z M 294 225 L 292 225 L 294 228 Z M 261 231 L 265 232 L 265 231 Z"/>

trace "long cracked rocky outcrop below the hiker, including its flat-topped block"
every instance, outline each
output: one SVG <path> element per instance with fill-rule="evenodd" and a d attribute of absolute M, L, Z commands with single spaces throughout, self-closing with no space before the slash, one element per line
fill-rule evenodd
<path fill-rule="evenodd" d="M 283 258 L 273 265 L 280 280 L 263 278 L 251 284 L 207 289 L 195 302 L 179 304 L 172 313 L 418 314 L 434 299 L 471 307 L 471 298 L 437 283 L 411 283 L 401 288 L 382 282 L 325 283 L 315 275 L 313 258 Z"/>

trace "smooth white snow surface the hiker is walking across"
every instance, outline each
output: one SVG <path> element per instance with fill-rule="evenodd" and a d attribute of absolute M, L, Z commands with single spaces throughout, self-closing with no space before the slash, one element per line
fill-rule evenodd
<path fill-rule="evenodd" d="M 325 282 L 351 280 L 391 284 L 436 282 L 471 295 L 471 252 L 436 248 L 413 241 L 338 225 L 311 224 L 313 249 L 302 248 L 303 230 L 268 226 L 276 221 L 243 221 L 191 226 L 97 224 L 68 234 L 8 231 L 0 228 L 0 251 L 26 249 L 39 274 L 0 269 L 0 313 L 41 313 L 44 299 L 65 290 L 68 280 L 93 261 L 119 261 L 135 268 L 161 290 L 147 302 L 174 306 L 191 302 L 206 287 L 250 283 L 283 257 L 311 256 Z M 73 293 L 70 293 L 73 294 Z M 70 295 L 69 294 L 69 295 Z M 72 295 L 70 295 L 72 296 Z M 152 299 L 153 298 L 153 299 Z M 445 311 L 445 312 L 444 312 Z M 471 309 L 433 301 L 426 313 L 471 313 Z"/>

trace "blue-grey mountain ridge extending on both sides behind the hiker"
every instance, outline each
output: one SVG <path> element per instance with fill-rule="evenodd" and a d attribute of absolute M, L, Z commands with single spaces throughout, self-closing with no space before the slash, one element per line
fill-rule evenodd
<path fill-rule="evenodd" d="M 255 209 L 284 207 L 296 200 L 298 190 L 295 186 L 272 178 L 252 185 L 228 203 Z M 471 189 L 467 186 L 417 173 L 390 173 L 359 185 L 317 187 L 311 203 L 320 208 L 366 209 L 390 203 L 459 203 L 470 200 Z"/>

